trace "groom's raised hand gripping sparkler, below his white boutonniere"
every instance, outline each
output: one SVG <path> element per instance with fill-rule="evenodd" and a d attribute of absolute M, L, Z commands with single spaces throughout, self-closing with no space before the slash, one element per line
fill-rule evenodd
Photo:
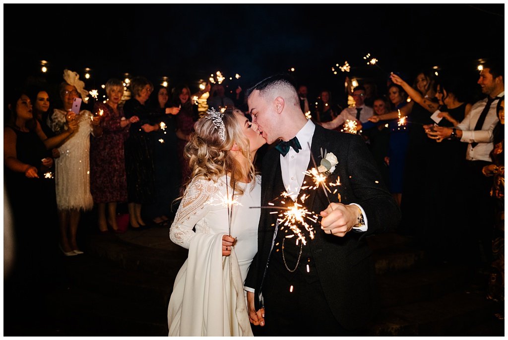
<path fill-rule="evenodd" d="M 327 234 L 343 237 L 358 223 L 359 209 L 356 206 L 345 206 L 342 203 L 330 203 L 321 212 L 321 229 Z"/>

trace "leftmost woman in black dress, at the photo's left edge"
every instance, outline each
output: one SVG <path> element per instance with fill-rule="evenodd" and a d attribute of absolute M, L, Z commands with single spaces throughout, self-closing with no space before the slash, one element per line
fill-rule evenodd
<path fill-rule="evenodd" d="M 56 226 L 46 216 L 56 211 L 56 202 L 45 185 L 53 159 L 40 138 L 30 99 L 25 91 L 13 92 L 6 98 L 11 119 L 4 127 L 4 185 L 14 221 L 16 267 L 29 285 L 44 275 L 40 267 L 47 266 L 44 262 L 55 243 L 51 230 Z"/>

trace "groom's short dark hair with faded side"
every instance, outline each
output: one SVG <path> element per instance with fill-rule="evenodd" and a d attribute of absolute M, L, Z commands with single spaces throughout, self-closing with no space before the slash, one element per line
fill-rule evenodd
<path fill-rule="evenodd" d="M 247 96 L 255 90 L 258 90 L 262 97 L 273 96 L 275 98 L 277 96 L 283 96 L 285 100 L 290 100 L 289 104 L 300 105 L 295 81 L 290 75 L 277 74 L 265 78 L 249 88 L 247 90 Z M 293 103 L 291 103 L 291 101 L 293 101 Z"/>

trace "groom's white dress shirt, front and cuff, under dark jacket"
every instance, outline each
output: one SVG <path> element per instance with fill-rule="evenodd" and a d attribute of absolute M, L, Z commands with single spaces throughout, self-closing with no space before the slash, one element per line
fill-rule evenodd
<path fill-rule="evenodd" d="M 300 189 L 302 187 L 305 172 L 307 171 L 307 167 L 310 161 L 310 147 L 312 146 L 312 137 L 314 135 L 315 125 L 309 119 L 307 123 L 298 131 L 296 134 L 296 138 L 300 143 L 302 150 L 296 152 L 293 148 L 289 148 L 289 152 L 282 156 L 280 155 L 280 170 L 282 173 L 282 182 L 284 183 L 284 188 L 288 193 L 291 194 L 291 198 L 296 200 L 300 193 Z M 316 160 L 317 162 L 317 160 Z M 340 163 L 337 164 L 340 166 Z M 310 179 L 310 178 L 309 178 Z M 363 208 L 356 204 L 351 203 L 351 205 L 357 206 L 362 211 L 363 218 L 365 220 L 365 225 L 360 227 L 354 227 L 359 231 L 367 230 L 367 216 L 365 215 L 365 211 Z M 319 214 L 320 212 L 316 212 Z"/>

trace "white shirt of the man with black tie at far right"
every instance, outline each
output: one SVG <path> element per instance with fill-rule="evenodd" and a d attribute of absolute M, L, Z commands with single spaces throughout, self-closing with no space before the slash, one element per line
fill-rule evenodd
<path fill-rule="evenodd" d="M 502 97 L 504 91 L 499 93 L 497 96 Z M 490 105 L 489 112 L 485 117 L 485 122 L 481 130 L 474 130 L 480 114 L 482 113 L 485 105 L 487 104 L 487 98 L 479 100 L 471 108 L 469 114 L 462 120 L 457 128 L 462 130 L 461 142 L 469 143 L 466 151 L 467 160 L 485 160 L 491 162 L 490 152 L 494 148 L 492 143 L 492 131 L 496 126 L 499 119 L 497 118 L 496 108 L 499 99 L 494 100 Z M 474 148 L 471 147 L 472 142 L 477 142 L 478 145 Z"/>

